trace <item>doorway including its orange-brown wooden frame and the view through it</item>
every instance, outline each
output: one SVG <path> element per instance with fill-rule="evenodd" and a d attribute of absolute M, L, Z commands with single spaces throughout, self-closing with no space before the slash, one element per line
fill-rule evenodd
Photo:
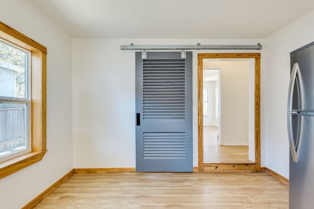
<path fill-rule="evenodd" d="M 198 170 L 259 172 L 260 53 L 198 54 L 198 91 Z"/>

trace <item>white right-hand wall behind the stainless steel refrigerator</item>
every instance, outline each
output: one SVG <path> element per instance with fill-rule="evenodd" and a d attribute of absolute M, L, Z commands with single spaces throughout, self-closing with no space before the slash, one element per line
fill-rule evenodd
<path fill-rule="evenodd" d="M 266 39 L 265 59 L 265 156 L 266 167 L 288 178 L 289 145 L 287 100 L 290 55 L 294 49 L 314 41 L 314 11 Z"/>

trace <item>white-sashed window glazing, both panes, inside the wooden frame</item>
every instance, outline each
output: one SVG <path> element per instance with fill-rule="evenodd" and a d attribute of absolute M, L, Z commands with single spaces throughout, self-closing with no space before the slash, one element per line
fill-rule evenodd
<path fill-rule="evenodd" d="M 0 39 L 0 162 L 31 151 L 30 54 Z"/>

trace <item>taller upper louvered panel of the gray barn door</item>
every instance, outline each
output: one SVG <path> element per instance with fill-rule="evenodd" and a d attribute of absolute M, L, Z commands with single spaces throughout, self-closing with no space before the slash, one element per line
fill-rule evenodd
<path fill-rule="evenodd" d="M 184 59 L 143 60 L 143 119 L 184 118 L 184 87 Z"/>

